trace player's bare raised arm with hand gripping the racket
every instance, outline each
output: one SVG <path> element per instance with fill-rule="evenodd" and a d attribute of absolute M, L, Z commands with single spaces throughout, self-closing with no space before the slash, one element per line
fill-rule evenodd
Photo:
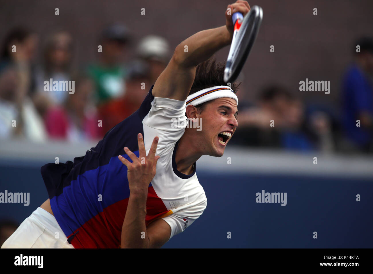
<path fill-rule="evenodd" d="M 250 11 L 247 1 L 238 0 L 225 11 L 226 25 L 197 32 L 182 41 L 154 84 L 154 97 L 186 100 L 193 85 L 196 66 L 209 59 L 216 51 L 231 44 L 233 36 L 232 14 Z M 208 11 L 207 11 L 208 12 Z"/>

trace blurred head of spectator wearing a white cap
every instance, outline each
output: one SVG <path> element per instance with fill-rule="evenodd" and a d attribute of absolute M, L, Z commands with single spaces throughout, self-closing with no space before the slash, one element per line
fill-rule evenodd
<path fill-rule="evenodd" d="M 153 85 L 170 60 L 169 43 L 160 36 L 148 35 L 138 44 L 137 56 L 148 63 L 150 84 Z"/>

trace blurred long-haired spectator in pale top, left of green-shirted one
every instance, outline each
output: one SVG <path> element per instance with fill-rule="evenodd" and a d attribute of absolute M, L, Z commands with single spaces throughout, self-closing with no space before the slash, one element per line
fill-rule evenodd
<path fill-rule="evenodd" d="M 37 86 L 34 103 L 41 116 L 53 104 L 61 105 L 67 91 L 45 91 L 44 81 L 71 81 L 72 37 L 68 32 L 56 32 L 47 38 L 43 52 L 43 67 L 37 70 Z"/>

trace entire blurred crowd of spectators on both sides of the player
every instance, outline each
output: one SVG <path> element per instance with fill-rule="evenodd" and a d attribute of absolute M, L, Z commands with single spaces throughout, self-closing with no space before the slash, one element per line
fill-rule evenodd
<path fill-rule="evenodd" d="M 126 26 L 111 25 L 98 35 L 97 60 L 76 68 L 72 61 L 78 41 L 69 32 L 51 33 L 41 43 L 27 28 L 10 30 L 0 56 L 0 138 L 103 138 L 140 107 L 172 55 L 163 37 L 148 35 L 135 45 L 133 40 Z M 310 104 L 297 91 L 266 86 L 255 101 L 240 104 L 231 144 L 372 153 L 372 38 L 354 41 L 351 55 L 353 62 L 341 75 L 341 104 Z M 74 81 L 73 93 L 53 81 Z"/>

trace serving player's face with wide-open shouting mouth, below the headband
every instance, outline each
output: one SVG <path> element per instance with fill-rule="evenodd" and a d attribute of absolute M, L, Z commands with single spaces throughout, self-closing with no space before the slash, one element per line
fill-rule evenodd
<path fill-rule="evenodd" d="M 198 114 L 201 113 L 201 114 Z M 207 103 L 202 111 L 197 111 L 197 119 L 202 119 L 202 130 L 196 135 L 206 155 L 222 157 L 225 147 L 238 126 L 236 100 L 218 98 Z"/>

